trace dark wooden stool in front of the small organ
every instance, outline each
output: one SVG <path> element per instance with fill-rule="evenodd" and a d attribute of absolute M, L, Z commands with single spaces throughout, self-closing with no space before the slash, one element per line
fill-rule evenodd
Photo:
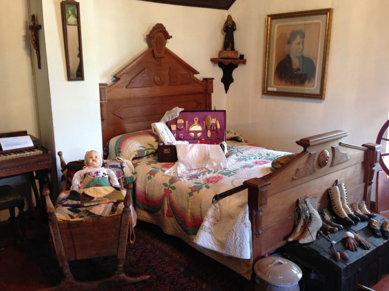
<path fill-rule="evenodd" d="M 19 226 L 21 228 L 22 235 L 19 234 L 15 207 L 18 207 L 19 214 Z M 14 188 L 9 185 L 0 186 L 0 210 L 9 210 L 11 231 L 15 240 L 18 240 L 21 244 L 26 239 L 26 225 L 24 217 L 24 197 L 20 195 Z"/>

